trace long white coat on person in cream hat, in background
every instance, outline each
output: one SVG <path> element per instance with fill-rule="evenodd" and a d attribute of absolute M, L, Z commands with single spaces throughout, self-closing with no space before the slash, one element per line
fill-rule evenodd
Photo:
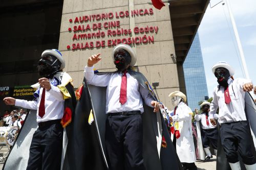
<path fill-rule="evenodd" d="M 179 122 L 180 137 L 176 139 L 176 150 L 181 162 L 193 163 L 197 160 L 192 132 L 191 109 L 183 102 L 178 104 L 174 122 Z M 173 139 L 173 134 L 172 134 Z"/>

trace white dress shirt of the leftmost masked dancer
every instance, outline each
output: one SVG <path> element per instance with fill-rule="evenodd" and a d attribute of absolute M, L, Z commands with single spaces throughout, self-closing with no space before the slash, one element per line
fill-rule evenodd
<path fill-rule="evenodd" d="M 16 99 L 15 106 L 20 106 L 27 109 L 37 110 L 36 121 L 46 122 L 48 120 L 61 119 L 64 113 L 64 99 L 59 88 L 51 84 L 51 89 L 46 90 L 45 94 L 45 115 L 40 117 L 38 115 L 38 108 L 41 101 L 42 88 L 39 91 L 39 98 L 36 101 L 26 101 Z"/>

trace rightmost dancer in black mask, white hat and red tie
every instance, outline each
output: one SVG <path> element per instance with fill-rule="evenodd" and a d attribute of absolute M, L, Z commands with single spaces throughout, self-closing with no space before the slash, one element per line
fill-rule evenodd
<path fill-rule="evenodd" d="M 209 117 L 213 122 L 219 107 L 221 144 L 227 161 L 232 170 L 240 170 L 240 154 L 246 169 L 256 169 L 256 160 L 251 150 L 254 146 L 245 114 L 245 91 L 251 91 L 253 85 L 250 80 L 233 79 L 234 70 L 226 62 L 212 66 L 212 73 L 219 85 L 214 89 Z"/>

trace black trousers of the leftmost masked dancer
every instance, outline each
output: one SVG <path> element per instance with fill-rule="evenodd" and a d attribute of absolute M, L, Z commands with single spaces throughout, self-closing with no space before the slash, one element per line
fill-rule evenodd
<path fill-rule="evenodd" d="M 30 145 L 27 170 L 60 169 L 63 128 L 58 121 L 48 121 L 35 131 Z"/>

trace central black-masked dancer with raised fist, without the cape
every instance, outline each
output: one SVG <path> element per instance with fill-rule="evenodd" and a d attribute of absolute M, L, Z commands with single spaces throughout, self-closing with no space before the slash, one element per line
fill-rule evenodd
<path fill-rule="evenodd" d="M 93 55 L 84 70 L 89 84 L 108 86 L 106 96 L 106 151 L 110 169 L 144 169 L 142 157 L 142 99 L 146 105 L 159 110 L 159 103 L 139 85 L 127 70 L 136 62 L 135 53 L 129 45 L 119 44 L 113 50 L 117 72 L 94 75 L 93 65 L 100 58 Z"/>

